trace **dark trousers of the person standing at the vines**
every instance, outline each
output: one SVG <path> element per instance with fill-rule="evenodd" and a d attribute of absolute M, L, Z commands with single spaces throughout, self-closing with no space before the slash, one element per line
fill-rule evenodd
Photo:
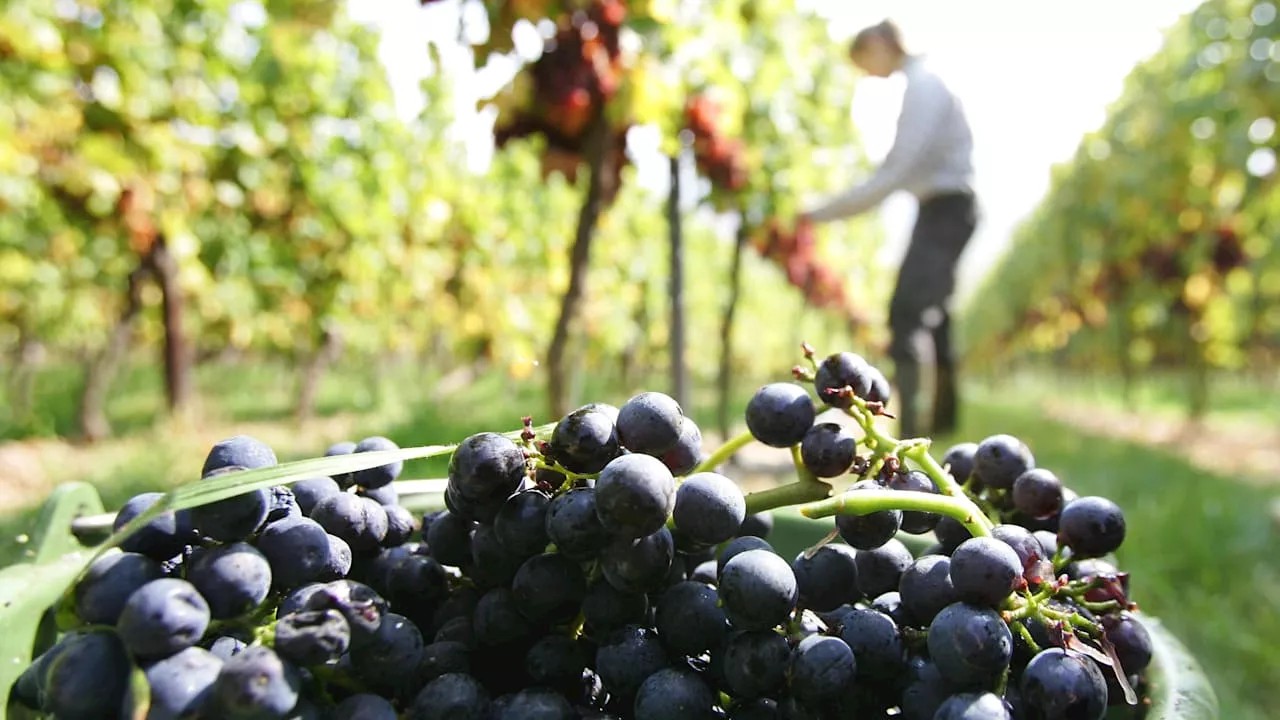
<path fill-rule="evenodd" d="M 937 374 L 931 433 L 955 429 L 956 357 L 951 346 L 948 305 L 955 292 L 956 264 L 975 227 L 977 209 L 972 195 L 947 193 L 920 202 L 911 245 L 899 270 L 888 311 L 892 333 L 890 356 L 899 392 L 901 437 L 920 437 L 924 430 L 918 407 L 920 368 L 924 364 L 916 341 L 919 336 L 932 341 Z"/>

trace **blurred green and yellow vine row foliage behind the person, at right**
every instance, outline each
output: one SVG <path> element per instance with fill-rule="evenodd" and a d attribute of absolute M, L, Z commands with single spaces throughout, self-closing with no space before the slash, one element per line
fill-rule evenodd
<path fill-rule="evenodd" d="M 979 364 L 1274 372 L 1277 37 L 1270 0 L 1210 0 L 1166 33 L 969 307 Z"/>

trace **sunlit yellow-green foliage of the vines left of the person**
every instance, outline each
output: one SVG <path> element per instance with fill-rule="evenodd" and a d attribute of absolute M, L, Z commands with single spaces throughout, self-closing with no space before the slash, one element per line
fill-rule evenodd
<path fill-rule="evenodd" d="M 549 8 L 536 5 L 489 10 Z M 477 61 L 511 51 L 503 22 Z M 690 337 L 717 334 L 733 242 L 724 211 L 760 223 L 858 167 L 852 77 L 824 33 L 791 0 L 630 4 L 611 113 L 672 149 L 685 96 L 713 91 L 745 147 L 748 183 L 733 202 L 710 197 L 712 211 L 686 222 Z M 302 359 L 329 329 L 356 356 L 483 356 L 529 374 L 567 282 L 584 182 L 547 174 L 543 137 L 468 170 L 451 132 L 462 76 L 433 50 L 425 109 L 404 120 L 376 49 L 376 33 L 332 0 L 5 3 L 0 350 L 100 354 L 131 273 L 163 236 L 202 357 Z M 520 86 L 517 76 L 494 101 Z M 663 199 L 622 172 L 591 263 L 580 366 L 664 359 Z M 874 233 L 867 223 L 824 233 L 824 258 L 878 307 Z M 805 310 L 769 263 L 749 259 L 744 282 L 739 323 L 782 323 L 795 337 L 754 336 L 740 365 L 788 365 L 801 337 L 847 337 L 846 318 Z M 159 290 L 146 287 L 142 302 L 137 346 L 154 347 Z"/>

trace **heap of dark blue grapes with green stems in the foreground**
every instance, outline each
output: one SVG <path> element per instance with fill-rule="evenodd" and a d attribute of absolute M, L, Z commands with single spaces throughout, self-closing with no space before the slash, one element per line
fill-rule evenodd
<path fill-rule="evenodd" d="M 879 370 L 805 359 L 710 455 L 644 392 L 466 438 L 421 519 L 399 462 L 163 512 L 90 565 L 13 697 L 61 720 L 1089 720 L 1132 698 L 1152 646 L 1108 559 L 1119 507 L 1010 436 L 943 469 L 877 428 Z M 744 495 L 718 466 L 748 442 L 797 479 Z M 274 464 L 236 437 L 202 475 Z M 796 503 L 835 525 L 782 557 L 768 511 Z"/>

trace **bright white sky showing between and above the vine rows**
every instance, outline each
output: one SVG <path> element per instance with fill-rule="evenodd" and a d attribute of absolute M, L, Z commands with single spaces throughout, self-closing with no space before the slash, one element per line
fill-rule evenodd
<path fill-rule="evenodd" d="M 831 18 L 833 42 L 886 17 L 897 22 L 913 51 L 924 53 L 965 104 L 974 133 L 977 192 L 982 224 L 960 268 L 963 296 L 972 291 L 1005 247 L 1018 222 L 1048 187 L 1050 168 L 1070 159 L 1082 135 L 1097 128 L 1135 63 L 1160 47 L 1161 32 L 1198 0 L 808 0 Z M 425 40 L 456 37 L 452 3 L 422 9 L 417 0 L 351 3 L 360 20 L 383 32 L 401 110 L 419 109 L 416 85 L 428 72 Z M 498 78 L 476 78 L 462 88 L 461 108 Z M 882 158 L 893 140 L 901 78 L 868 79 L 851 108 L 868 154 Z M 468 140 L 485 141 L 488 123 L 468 123 Z M 483 155 L 483 154 L 481 154 Z M 662 177 L 658 172 L 641 173 Z M 657 181 L 660 182 L 660 181 Z M 897 193 L 881 209 L 886 258 L 905 249 L 915 201 Z"/>

